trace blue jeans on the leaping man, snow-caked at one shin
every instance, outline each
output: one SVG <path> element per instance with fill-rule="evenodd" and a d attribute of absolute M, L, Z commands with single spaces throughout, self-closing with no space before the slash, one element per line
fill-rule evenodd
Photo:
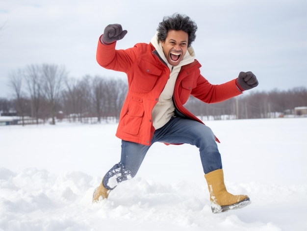
<path fill-rule="evenodd" d="M 222 168 L 221 154 L 212 130 L 197 121 L 172 117 L 166 125 L 155 130 L 151 145 L 155 142 L 195 145 L 199 148 L 205 174 Z M 104 176 L 104 187 L 112 190 L 118 183 L 133 178 L 151 145 L 122 140 L 121 161 Z"/>

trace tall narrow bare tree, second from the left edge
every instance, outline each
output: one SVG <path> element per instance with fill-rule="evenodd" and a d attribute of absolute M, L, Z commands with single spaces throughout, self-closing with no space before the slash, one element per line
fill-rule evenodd
<path fill-rule="evenodd" d="M 35 117 L 36 124 L 39 123 L 39 106 L 41 101 L 41 68 L 37 65 L 29 65 L 25 70 L 27 88 L 31 97 L 32 117 Z"/>

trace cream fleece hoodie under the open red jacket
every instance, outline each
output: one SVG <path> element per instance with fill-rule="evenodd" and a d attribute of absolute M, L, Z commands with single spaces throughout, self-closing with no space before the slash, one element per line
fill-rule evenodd
<path fill-rule="evenodd" d="M 167 62 L 167 59 L 162 50 L 161 42 L 158 40 L 157 33 L 153 36 L 151 43 L 153 44 L 155 50 L 158 52 L 160 58 L 162 58 L 164 62 L 167 63 L 167 66 L 171 71 L 170 77 L 159 96 L 159 101 L 155 104 L 152 111 L 153 127 L 155 129 L 159 129 L 162 128 L 167 122 L 169 122 L 172 116 L 175 114 L 173 94 L 176 79 L 182 66 L 194 62 L 195 53 L 193 48 L 190 46 L 180 63 L 177 66 L 172 66 Z"/>

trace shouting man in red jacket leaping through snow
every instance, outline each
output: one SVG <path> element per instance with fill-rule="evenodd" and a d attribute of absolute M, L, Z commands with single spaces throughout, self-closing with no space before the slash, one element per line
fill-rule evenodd
<path fill-rule="evenodd" d="M 137 173 L 155 142 L 191 144 L 199 148 L 208 184 L 212 212 L 250 204 L 246 195 L 232 195 L 224 184 L 221 155 L 210 128 L 183 104 L 190 95 L 205 103 L 218 103 L 258 85 L 252 72 L 220 85 L 210 84 L 201 74 L 191 43 L 197 25 L 187 16 L 164 17 L 149 44 L 138 43 L 116 50 L 116 41 L 127 30 L 119 24 L 106 26 L 97 48 L 97 61 L 106 68 L 127 74 L 128 94 L 116 136 L 122 139 L 121 160 L 103 177 L 93 202 L 106 199 L 120 182 Z"/>

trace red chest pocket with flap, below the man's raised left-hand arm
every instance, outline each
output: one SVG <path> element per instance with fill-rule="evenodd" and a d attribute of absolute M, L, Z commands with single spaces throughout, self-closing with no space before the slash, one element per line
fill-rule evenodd
<path fill-rule="evenodd" d="M 139 72 L 133 77 L 133 84 L 143 91 L 151 91 L 162 74 L 162 70 L 143 59 L 137 63 Z"/>

